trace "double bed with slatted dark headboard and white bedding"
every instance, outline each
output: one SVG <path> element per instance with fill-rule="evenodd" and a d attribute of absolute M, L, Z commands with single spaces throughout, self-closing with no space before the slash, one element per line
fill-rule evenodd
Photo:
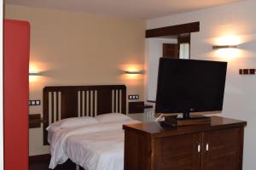
<path fill-rule="evenodd" d="M 125 116 L 125 85 L 46 87 L 43 102 L 44 144 L 50 144 L 50 168 L 123 169 L 122 125 L 137 122 Z M 96 119 L 97 123 L 91 123 L 88 117 L 96 117 L 91 120 Z M 70 122 L 84 122 L 87 118 L 90 124 L 83 126 Z M 49 129 L 66 120 L 69 127 Z"/>

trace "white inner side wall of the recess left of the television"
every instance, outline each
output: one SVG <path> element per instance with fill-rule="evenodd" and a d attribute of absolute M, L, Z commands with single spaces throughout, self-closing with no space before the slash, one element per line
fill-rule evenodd
<path fill-rule="evenodd" d="M 148 65 L 147 65 L 147 81 L 148 84 L 148 96 L 145 99 L 155 100 L 156 99 L 156 88 L 157 88 L 157 75 L 159 59 L 163 55 L 163 43 L 177 43 L 177 39 L 172 38 L 147 38 L 146 49 L 148 54 Z"/>

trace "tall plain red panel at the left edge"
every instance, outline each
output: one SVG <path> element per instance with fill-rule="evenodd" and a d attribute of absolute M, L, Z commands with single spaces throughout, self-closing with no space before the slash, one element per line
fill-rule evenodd
<path fill-rule="evenodd" d="M 30 26 L 3 23 L 4 170 L 28 169 L 28 70 Z"/>

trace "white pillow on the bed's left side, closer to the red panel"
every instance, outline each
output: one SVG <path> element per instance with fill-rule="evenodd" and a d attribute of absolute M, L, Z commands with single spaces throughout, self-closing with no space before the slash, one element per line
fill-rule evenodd
<path fill-rule="evenodd" d="M 73 128 L 73 127 L 83 127 L 86 125 L 99 123 L 96 118 L 90 116 L 82 117 L 71 117 L 67 119 L 62 119 L 61 121 L 54 122 L 46 130 L 51 129 L 52 131 L 60 130 L 63 128 Z"/>

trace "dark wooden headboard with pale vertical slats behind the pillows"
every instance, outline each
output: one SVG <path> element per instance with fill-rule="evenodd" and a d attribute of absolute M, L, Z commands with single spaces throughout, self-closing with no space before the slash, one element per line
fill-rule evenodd
<path fill-rule="evenodd" d="M 125 85 L 55 86 L 44 88 L 44 144 L 46 127 L 61 119 L 96 116 L 106 113 L 126 114 Z"/>

